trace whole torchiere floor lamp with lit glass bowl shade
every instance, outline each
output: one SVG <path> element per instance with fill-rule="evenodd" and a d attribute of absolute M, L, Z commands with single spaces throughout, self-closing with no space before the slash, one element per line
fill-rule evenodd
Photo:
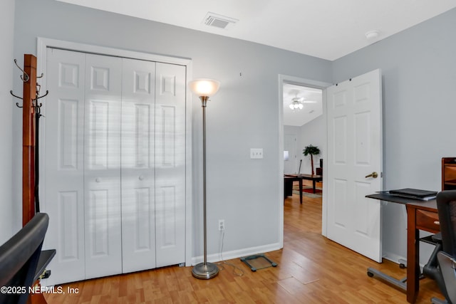
<path fill-rule="evenodd" d="M 195 278 L 208 280 L 219 274 L 214 263 L 207 263 L 207 227 L 206 227 L 206 105 L 209 97 L 217 93 L 220 82 L 213 79 L 195 79 L 190 81 L 190 90 L 199 96 L 202 103 L 202 184 L 203 184 L 203 218 L 204 218 L 204 262 L 193 267 Z"/>

